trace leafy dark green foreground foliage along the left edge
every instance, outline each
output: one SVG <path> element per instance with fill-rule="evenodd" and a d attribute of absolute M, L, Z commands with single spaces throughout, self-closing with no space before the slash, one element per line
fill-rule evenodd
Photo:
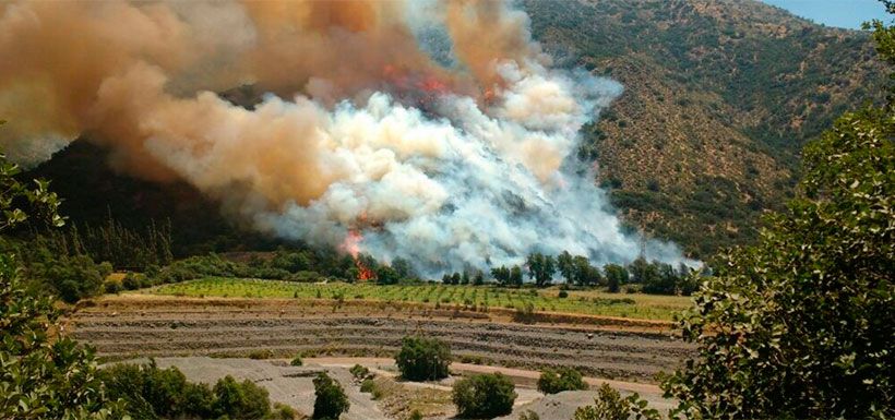
<path fill-rule="evenodd" d="M 28 213 L 61 226 L 59 200 L 47 182 L 29 189 L 13 178 L 17 172 L 0 155 L 0 231 L 25 223 Z M 49 297 L 25 289 L 14 255 L 0 253 L 0 418 L 122 418 L 96 376 L 93 350 L 56 336 L 60 315 Z"/>

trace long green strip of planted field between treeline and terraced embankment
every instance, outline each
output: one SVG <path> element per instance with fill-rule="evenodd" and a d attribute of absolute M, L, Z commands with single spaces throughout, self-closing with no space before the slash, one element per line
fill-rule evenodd
<path fill-rule="evenodd" d="M 381 302 L 418 302 L 430 307 L 524 308 L 535 311 L 641 320 L 671 320 L 690 307 L 688 297 L 642 293 L 607 293 L 569 290 L 559 298 L 553 289 L 508 289 L 494 286 L 448 286 L 441 284 L 380 286 L 375 284 L 311 284 L 279 280 L 208 277 L 146 289 L 153 295 L 225 298 L 333 299 Z"/>

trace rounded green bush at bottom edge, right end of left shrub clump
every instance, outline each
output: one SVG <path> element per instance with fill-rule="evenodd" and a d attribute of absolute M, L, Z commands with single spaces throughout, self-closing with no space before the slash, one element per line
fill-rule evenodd
<path fill-rule="evenodd" d="M 227 375 L 214 385 L 216 400 L 212 405 L 217 417 L 230 419 L 264 419 L 271 412 L 267 389 L 246 380 L 242 383 Z"/>

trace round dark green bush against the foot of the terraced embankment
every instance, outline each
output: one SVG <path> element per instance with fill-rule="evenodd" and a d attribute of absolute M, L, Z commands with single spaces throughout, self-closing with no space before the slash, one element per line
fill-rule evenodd
<path fill-rule="evenodd" d="M 435 338 L 404 337 L 395 363 L 406 380 L 440 380 L 450 373 L 451 348 Z"/>

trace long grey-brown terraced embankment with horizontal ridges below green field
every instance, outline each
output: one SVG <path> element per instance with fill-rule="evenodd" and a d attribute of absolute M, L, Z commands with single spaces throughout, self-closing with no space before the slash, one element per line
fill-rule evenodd
<path fill-rule="evenodd" d="M 402 337 L 425 334 L 449 341 L 464 361 L 529 369 L 569 365 L 590 376 L 647 383 L 691 351 L 670 332 L 643 325 L 525 325 L 444 312 L 122 296 L 79 309 L 69 329 L 111 359 L 246 356 L 254 350 L 271 350 L 275 357 L 391 356 Z"/>

